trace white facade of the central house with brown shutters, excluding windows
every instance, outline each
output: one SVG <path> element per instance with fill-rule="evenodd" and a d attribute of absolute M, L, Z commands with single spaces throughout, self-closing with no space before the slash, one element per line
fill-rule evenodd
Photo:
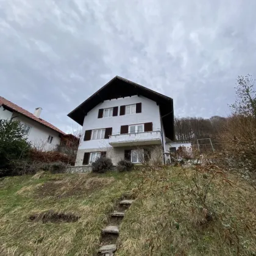
<path fill-rule="evenodd" d="M 121 105 L 137 103 L 141 103 L 141 113 L 119 115 Z M 98 118 L 99 109 L 111 107 L 118 107 L 118 116 Z M 145 123 L 152 123 L 151 132 L 120 134 L 121 126 Z M 136 149 L 140 146 L 152 149 L 152 147 L 155 148 L 158 145 L 158 148 L 163 151 L 162 145 L 165 145 L 165 135 L 162 135 L 160 109 L 157 103 L 151 99 L 144 96 L 131 96 L 101 102 L 85 115 L 82 134 L 84 136 L 86 130 L 109 127 L 112 127 L 110 138 L 81 141 L 77 152 L 76 166 L 82 166 L 85 152 L 106 151 L 107 156 L 112 158 L 115 165 L 119 160 L 124 159 L 126 149 Z M 164 143 L 162 143 L 163 138 Z"/>

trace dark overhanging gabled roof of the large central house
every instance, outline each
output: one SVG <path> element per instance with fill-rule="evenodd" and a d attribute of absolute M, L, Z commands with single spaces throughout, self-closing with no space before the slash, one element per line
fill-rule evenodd
<path fill-rule="evenodd" d="M 85 115 L 99 103 L 109 99 L 133 95 L 141 95 L 157 102 L 160 106 L 165 135 L 170 140 L 174 140 L 174 111 L 172 98 L 119 76 L 110 80 L 104 87 L 96 91 L 90 98 L 70 112 L 68 116 L 82 126 Z"/>

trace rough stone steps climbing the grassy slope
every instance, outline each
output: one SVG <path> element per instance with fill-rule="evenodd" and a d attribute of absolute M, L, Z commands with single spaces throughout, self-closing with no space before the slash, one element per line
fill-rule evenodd
<path fill-rule="evenodd" d="M 134 200 L 123 200 L 119 202 L 116 211 L 110 213 L 109 223 L 101 233 L 101 247 L 98 249 L 98 255 L 113 256 L 116 251 L 116 240 L 119 234 L 119 224 L 126 214 Z"/>

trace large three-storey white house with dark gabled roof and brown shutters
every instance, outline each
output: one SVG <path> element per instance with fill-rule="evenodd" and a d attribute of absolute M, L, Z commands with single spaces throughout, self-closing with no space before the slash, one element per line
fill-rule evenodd
<path fill-rule="evenodd" d="M 169 158 L 172 99 L 127 79 L 116 76 L 68 116 L 83 126 L 76 166 L 90 166 L 101 155 L 114 165 L 124 158 L 133 163 Z"/>

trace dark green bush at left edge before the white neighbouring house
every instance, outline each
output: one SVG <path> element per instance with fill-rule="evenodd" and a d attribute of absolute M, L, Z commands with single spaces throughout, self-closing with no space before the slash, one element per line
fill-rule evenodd
<path fill-rule="evenodd" d="M 27 157 L 30 143 L 19 121 L 0 120 L 0 176 L 13 175 L 12 162 Z"/>

